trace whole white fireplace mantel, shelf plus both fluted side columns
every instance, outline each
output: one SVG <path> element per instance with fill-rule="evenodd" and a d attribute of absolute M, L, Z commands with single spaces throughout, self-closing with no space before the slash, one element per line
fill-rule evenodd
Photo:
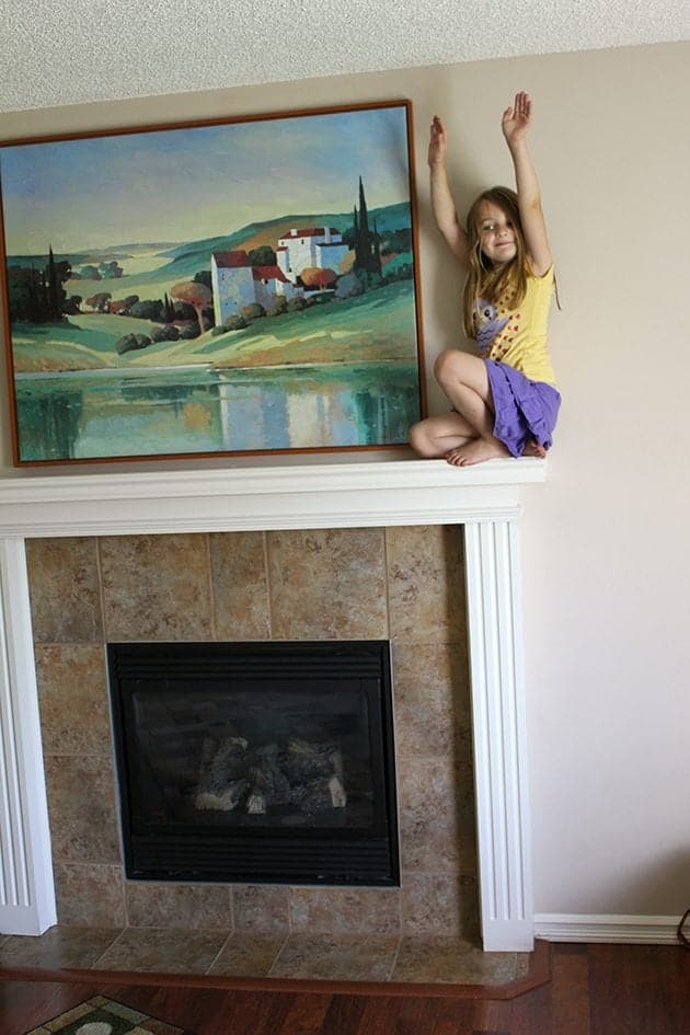
<path fill-rule="evenodd" d="M 27 539 L 462 526 L 482 941 L 530 951 L 517 522 L 520 485 L 544 479 L 545 464 L 532 459 L 464 471 L 441 461 L 292 461 L 2 479 L 0 932 L 41 934 L 56 922 Z"/>

